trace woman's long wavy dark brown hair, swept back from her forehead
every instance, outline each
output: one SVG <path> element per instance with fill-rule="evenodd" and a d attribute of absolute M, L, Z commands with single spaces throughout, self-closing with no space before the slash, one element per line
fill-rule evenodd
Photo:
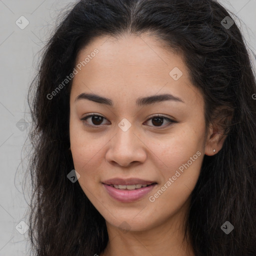
<path fill-rule="evenodd" d="M 150 32 L 182 54 L 191 82 L 203 94 L 206 127 L 220 121 L 225 127 L 222 149 L 204 155 L 191 193 L 186 233 L 195 255 L 256 255 L 256 82 L 237 25 L 223 25 L 230 13 L 215 0 L 80 0 L 65 13 L 28 92 L 32 255 L 92 256 L 106 247 L 104 218 L 79 183 L 67 178 L 74 169 L 72 80 L 52 99 L 47 94 L 73 71 L 78 51 L 93 38 L 127 32 Z M 232 118 L 224 121 L 227 116 Z M 225 221 L 234 226 L 229 234 L 220 228 Z"/>

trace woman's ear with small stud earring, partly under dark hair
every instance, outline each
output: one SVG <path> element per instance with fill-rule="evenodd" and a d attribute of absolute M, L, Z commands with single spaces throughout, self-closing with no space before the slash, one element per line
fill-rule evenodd
<path fill-rule="evenodd" d="M 222 148 L 229 131 L 232 115 L 233 109 L 229 107 L 222 106 L 215 109 L 213 121 L 209 125 L 205 140 L 204 153 L 206 155 L 214 155 Z M 214 152 L 213 149 L 215 149 Z"/>

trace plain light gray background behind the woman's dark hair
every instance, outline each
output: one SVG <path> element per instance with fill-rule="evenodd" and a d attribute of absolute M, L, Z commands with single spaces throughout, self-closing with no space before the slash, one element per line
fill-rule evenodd
<path fill-rule="evenodd" d="M 27 90 L 36 72 L 38 51 L 52 33 L 57 15 L 73 2 L 0 0 L 0 256 L 28 254 L 28 232 L 20 233 L 25 231 L 20 221 L 28 223 L 26 212 L 30 201 L 29 185 L 24 187 L 29 149 L 26 127 L 31 121 Z M 238 16 L 240 22 L 236 23 L 248 47 L 256 53 L 256 0 L 221 0 L 220 3 Z M 20 25 L 25 24 L 20 16 L 29 21 L 24 29 L 15 23 L 18 20 Z M 255 58 L 252 61 L 255 65 Z M 24 143 L 28 149 L 21 151 Z"/>

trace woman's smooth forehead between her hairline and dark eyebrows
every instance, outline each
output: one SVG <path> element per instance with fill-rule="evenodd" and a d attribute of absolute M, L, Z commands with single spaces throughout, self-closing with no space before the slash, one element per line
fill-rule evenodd
<path fill-rule="evenodd" d="M 98 52 L 91 54 L 95 49 Z M 87 91 L 112 98 L 120 93 L 132 97 L 171 92 L 186 101 L 201 100 L 182 56 L 153 36 L 99 37 L 79 51 L 76 65 L 79 63 L 71 94 Z M 178 79 L 173 79 L 175 73 Z"/>

